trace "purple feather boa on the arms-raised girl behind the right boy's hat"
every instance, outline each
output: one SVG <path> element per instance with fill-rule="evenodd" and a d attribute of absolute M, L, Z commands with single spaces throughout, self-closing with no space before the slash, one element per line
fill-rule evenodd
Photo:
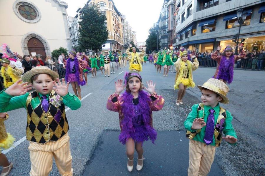
<path fill-rule="evenodd" d="M 230 84 L 233 81 L 235 56 L 233 55 L 229 57 L 230 64 L 228 71 L 226 71 L 225 69 L 225 61 L 226 61 L 226 56 L 222 56 L 218 67 L 218 73 L 216 79 L 221 78 L 223 80 L 226 80 L 227 83 Z"/>

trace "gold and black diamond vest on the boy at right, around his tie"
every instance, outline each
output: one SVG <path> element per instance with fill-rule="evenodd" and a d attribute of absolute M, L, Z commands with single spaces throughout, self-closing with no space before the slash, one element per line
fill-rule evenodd
<path fill-rule="evenodd" d="M 197 118 L 204 118 L 204 105 L 200 103 L 198 106 L 198 115 Z M 217 118 L 217 123 L 214 128 L 214 138 L 215 138 L 215 146 L 219 147 L 222 142 L 222 129 L 223 124 L 226 120 L 226 110 L 220 106 L 219 116 Z M 193 139 L 198 133 L 201 132 L 201 129 L 191 132 L 189 130 L 186 131 L 186 137 L 189 139 Z"/>

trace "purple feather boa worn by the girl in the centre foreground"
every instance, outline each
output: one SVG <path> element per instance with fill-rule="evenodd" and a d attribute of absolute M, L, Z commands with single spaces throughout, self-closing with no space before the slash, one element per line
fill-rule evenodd
<path fill-rule="evenodd" d="M 154 141 L 156 140 L 157 133 L 150 125 L 152 115 L 150 101 L 152 100 L 150 99 L 148 93 L 144 92 L 143 90 L 139 91 L 139 95 L 139 106 L 141 107 L 144 122 L 144 127 L 140 128 L 140 130 L 135 130 L 132 124 L 132 117 L 135 116 L 134 107 L 132 104 L 133 96 L 129 92 L 124 92 L 121 96 L 121 110 L 124 118 L 121 121 L 122 131 L 119 135 L 119 140 L 122 144 L 125 144 L 128 138 L 132 138 L 132 135 L 134 135 L 136 137 L 135 140 L 139 142 L 150 139 L 154 144 Z"/>

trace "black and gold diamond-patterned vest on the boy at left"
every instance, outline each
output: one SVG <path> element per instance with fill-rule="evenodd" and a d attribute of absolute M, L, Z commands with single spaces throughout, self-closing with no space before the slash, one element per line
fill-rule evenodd
<path fill-rule="evenodd" d="M 27 107 L 27 140 L 37 143 L 57 141 L 68 130 L 63 99 L 54 90 L 49 95 L 49 110 L 42 109 L 41 98 L 34 91 L 29 93 Z"/>

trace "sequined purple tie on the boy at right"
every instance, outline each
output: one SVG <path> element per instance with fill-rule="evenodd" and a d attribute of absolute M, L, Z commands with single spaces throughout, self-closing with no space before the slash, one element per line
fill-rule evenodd
<path fill-rule="evenodd" d="M 207 123 L 206 123 L 206 130 L 205 130 L 205 136 L 203 138 L 203 141 L 206 143 L 206 145 L 210 145 L 213 143 L 213 132 L 214 132 L 214 115 L 215 112 L 213 109 L 210 109 L 210 114 L 208 115 Z"/>

